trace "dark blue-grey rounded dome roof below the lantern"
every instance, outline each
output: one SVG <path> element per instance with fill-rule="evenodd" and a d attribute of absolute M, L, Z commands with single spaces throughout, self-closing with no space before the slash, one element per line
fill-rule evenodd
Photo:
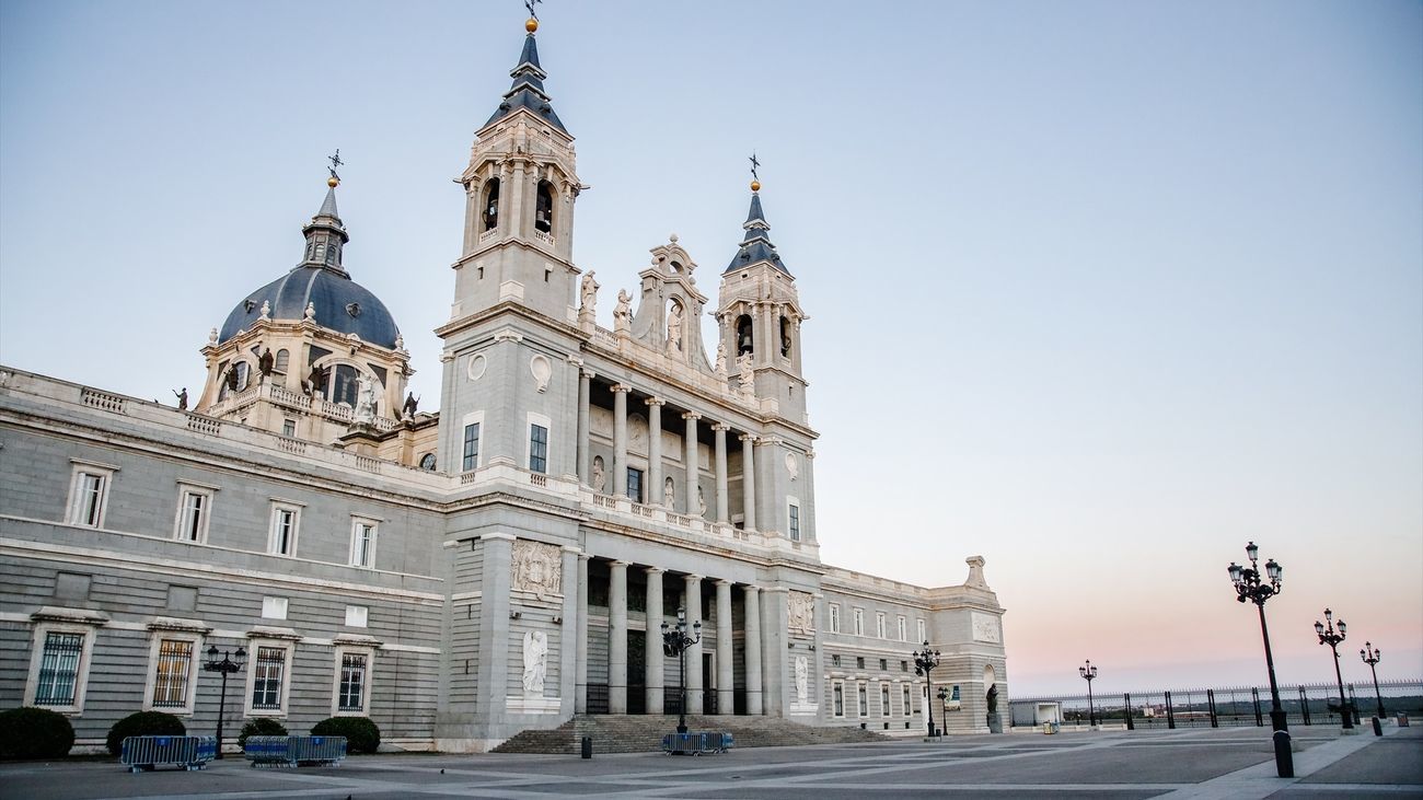
<path fill-rule="evenodd" d="M 246 296 L 222 323 L 221 342 L 226 342 L 239 330 L 252 330 L 262 316 L 262 303 L 272 303 L 270 317 L 275 320 L 302 320 L 306 305 L 316 306 L 316 325 L 354 333 L 363 342 L 396 346 L 400 329 L 391 319 L 386 305 L 360 283 L 334 270 L 320 266 L 297 266 L 272 283 Z"/>

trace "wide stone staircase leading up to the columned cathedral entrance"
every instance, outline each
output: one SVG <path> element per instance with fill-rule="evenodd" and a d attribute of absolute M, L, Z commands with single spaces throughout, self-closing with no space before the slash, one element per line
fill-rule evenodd
<path fill-rule="evenodd" d="M 595 754 L 656 753 L 662 750 L 662 736 L 676 729 L 676 716 L 578 715 L 552 730 L 522 730 L 494 752 L 578 754 L 583 736 L 592 736 Z M 687 715 L 687 730 L 730 733 L 736 739 L 736 747 L 889 742 L 888 736 L 874 730 L 811 727 L 768 716 Z"/>

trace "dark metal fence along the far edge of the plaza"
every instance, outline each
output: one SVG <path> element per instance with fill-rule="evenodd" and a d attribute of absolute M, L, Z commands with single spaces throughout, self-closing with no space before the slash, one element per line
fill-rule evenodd
<path fill-rule="evenodd" d="M 1373 716 L 1380 705 L 1385 715 L 1423 716 L 1423 680 L 1380 680 L 1377 696 L 1372 682 L 1345 683 L 1345 695 L 1356 716 Z M 1039 719 L 1039 705 L 1060 703 L 1059 722 L 1066 725 L 1087 725 L 1090 717 L 1096 717 L 1099 725 L 1128 730 L 1269 725 L 1268 686 L 1093 692 L 1091 699 L 1089 709 L 1087 695 L 1013 698 L 1009 700 L 1009 715 L 1015 727 L 1042 725 L 1046 720 Z M 1279 705 L 1291 726 L 1338 726 L 1343 722 L 1339 716 L 1339 686 L 1335 683 L 1281 686 Z"/>

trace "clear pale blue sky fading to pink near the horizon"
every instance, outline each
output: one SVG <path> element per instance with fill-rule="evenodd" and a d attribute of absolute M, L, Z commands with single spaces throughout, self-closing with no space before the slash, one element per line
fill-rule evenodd
<path fill-rule="evenodd" d="M 144 399 L 300 259 L 344 265 L 438 397 L 453 182 L 517 0 L 0 0 L 0 363 Z M 797 278 L 821 555 L 921 585 L 983 555 L 1013 695 L 1264 685 L 1227 565 L 1423 676 L 1423 4 L 539 6 L 585 191 L 575 262 L 676 232 L 710 290 L 747 157 Z M 599 323 L 612 327 L 610 303 Z M 710 317 L 704 336 L 714 333 Z M 1358 642 L 1355 642 L 1358 639 Z"/>

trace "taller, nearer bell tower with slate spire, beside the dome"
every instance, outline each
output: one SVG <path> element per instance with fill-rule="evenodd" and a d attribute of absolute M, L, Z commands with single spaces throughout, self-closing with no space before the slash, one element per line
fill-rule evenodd
<path fill-rule="evenodd" d="M 575 172 L 573 137 L 544 90 L 538 20 L 525 30 L 514 84 L 475 132 L 470 165 L 455 179 L 465 215 L 451 322 L 504 302 L 575 320 L 573 204 L 588 186 Z"/>

